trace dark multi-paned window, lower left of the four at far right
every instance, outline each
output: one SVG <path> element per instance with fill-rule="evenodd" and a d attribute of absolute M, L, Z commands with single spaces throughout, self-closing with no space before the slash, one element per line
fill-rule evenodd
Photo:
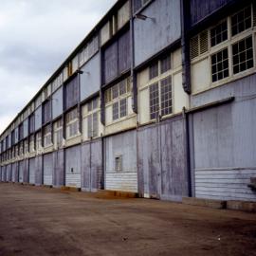
<path fill-rule="evenodd" d="M 229 77 L 229 54 L 225 48 L 211 55 L 211 78 L 212 82 Z"/>

